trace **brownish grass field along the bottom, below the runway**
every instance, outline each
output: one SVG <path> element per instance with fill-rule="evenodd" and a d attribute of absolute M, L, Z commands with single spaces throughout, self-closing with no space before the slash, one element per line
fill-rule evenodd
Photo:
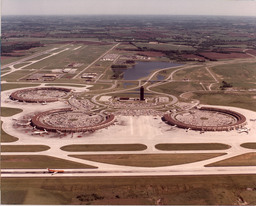
<path fill-rule="evenodd" d="M 2 204 L 256 204 L 256 175 L 2 178 Z"/>

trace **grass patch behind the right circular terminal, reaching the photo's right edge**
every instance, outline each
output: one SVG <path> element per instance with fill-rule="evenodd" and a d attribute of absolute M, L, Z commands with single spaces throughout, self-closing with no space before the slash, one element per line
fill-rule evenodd
<path fill-rule="evenodd" d="M 222 105 L 222 106 L 232 106 L 240 107 L 244 109 L 249 109 L 256 111 L 256 98 L 255 95 L 240 92 L 240 93 L 227 93 L 227 92 L 217 92 L 217 93 L 202 93 L 196 92 L 192 96 L 193 99 L 200 100 L 201 104 L 209 105 Z"/>

